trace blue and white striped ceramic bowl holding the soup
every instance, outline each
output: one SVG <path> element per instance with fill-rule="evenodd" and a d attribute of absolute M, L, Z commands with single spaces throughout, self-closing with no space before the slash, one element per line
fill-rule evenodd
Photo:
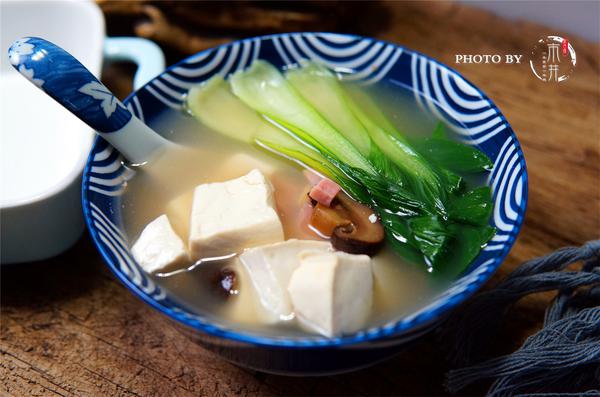
<path fill-rule="evenodd" d="M 121 155 L 100 137 L 83 177 L 87 225 L 104 259 L 127 288 L 179 324 L 190 337 L 226 359 L 288 374 L 324 374 L 369 365 L 434 328 L 500 266 L 519 233 L 527 203 L 527 171 L 521 147 L 496 105 L 456 71 L 407 48 L 342 34 L 263 36 L 206 50 L 167 69 L 131 94 L 125 104 L 152 127 L 166 112 L 181 112 L 184 95 L 191 85 L 215 74 L 227 76 L 255 59 L 282 68 L 311 59 L 364 84 L 388 80 L 412 91 L 415 102 L 424 111 L 444 120 L 464 142 L 477 146 L 492 159 L 494 169 L 487 183 L 494 196 L 491 223 L 498 232 L 460 278 L 411 315 L 337 338 L 267 337 L 192 313 L 156 285 L 133 259 L 121 214 L 121 196 L 130 175 L 122 166 Z"/>

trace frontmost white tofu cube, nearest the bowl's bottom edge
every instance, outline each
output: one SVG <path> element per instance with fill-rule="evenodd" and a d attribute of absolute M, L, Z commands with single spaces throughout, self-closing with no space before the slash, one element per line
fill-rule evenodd
<path fill-rule="evenodd" d="M 296 318 L 332 337 L 366 325 L 373 301 L 371 258 L 343 252 L 302 252 L 288 287 Z"/>

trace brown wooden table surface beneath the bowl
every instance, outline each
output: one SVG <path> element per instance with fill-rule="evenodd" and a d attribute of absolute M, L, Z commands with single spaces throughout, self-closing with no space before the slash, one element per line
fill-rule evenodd
<path fill-rule="evenodd" d="M 385 7 L 389 18 L 373 34 L 458 69 L 502 109 L 523 145 L 530 176 L 525 226 L 496 278 L 528 258 L 598 238 L 599 46 L 569 37 L 577 51 L 573 76 L 545 84 L 527 64 L 455 65 L 454 56 L 527 54 L 539 37 L 563 32 L 449 3 Z M 539 328 L 551 296 L 517 305 L 499 341 L 506 352 Z M 432 337 L 347 375 L 286 378 L 237 368 L 133 297 L 88 236 L 52 260 L 3 267 L 1 321 L 2 395 L 439 395 L 449 369 Z"/>

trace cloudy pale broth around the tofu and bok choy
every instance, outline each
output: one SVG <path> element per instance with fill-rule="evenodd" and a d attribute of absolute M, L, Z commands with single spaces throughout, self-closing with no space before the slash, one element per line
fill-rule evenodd
<path fill-rule="evenodd" d="M 354 86 L 343 84 L 349 90 L 357 90 Z M 410 139 L 429 136 L 436 125 L 435 120 L 416 107 L 408 92 L 399 94 L 403 90 L 398 87 L 382 83 L 359 90 L 379 98 L 379 103 L 385 104 L 382 105 L 383 113 L 395 128 L 407 131 Z M 281 222 L 284 240 L 329 241 L 330 236 L 324 236 L 320 230 L 316 230 L 303 213 L 309 208 L 314 217 L 315 205 L 321 205 L 315 203 L 314 199 L 312 203 L 308 200 L 309 193 L 312 197 L 311 189 L 315 182 L 311 181 L 310 175 L 307 178 L 306 167 L 289 158 L 274 155 L 264 147 L 249 145 L 218 133 L 189 114 L 167 112 L 154 120 L 152 127 L 186 149 L 169 151 L 157 161 L 137 167 L 135 177 L 128 181 L 122 204 L 125 229 L 130 241 L 135 242 L 140 238 L 146 225 L 163 214 L 169 218 L 175 233 L 183 241 L 188 241 L 189 208 L 192 196 L 198 194 L 198 190 L 194 193 L 194 189 L 200 185 L 227 183 L 256 169 L 266 175 L 273 187 L 274 208 Z M 315 175 L 312 174 L 313 177 Z M 322 181 L 321 176 L 317 180 Z M 464 185 L 462 189 L 470 191 L 472 186 L 479 184 L 478 178 L 477 174 L 465 173 L 461 179 Z M 341 200 L 339 194 L 346 190 L 345 186 L 341 188 L 343 190 L 337 193 L 335 200 Z M 326 209 L 326 206 L 321 207 Z M 390 229 L 386 229 L 385 233 L 389 237 Z M 298 321 L 295 311 L 277 321 L 268 320 L 264 313 L 262 291 L 253 281 L 253 275 L 249 274 L 249 267 L 240 260 L 240 254 L 245 250 L 232 251 L 235 252 L 231 252 L 231 255 L 228 253 L 202 262 L 192 271 L 163 274 L 167 277 L 155 272 L 153 279 L 191 312 L 207 315 L 232 328 L 267 336 L 323 333 Z M 402 251 L 389 238 L 374 252 L 368 253 L 371 257 L 365 260 L 369 261 L 372 270 L 372 303 L 361 329 L 382 325 L 418 310 L 446 288 L 456 275 L 455 272 L 432 275 L 431 263 L 414 261 L 410 256 L 402 255 Z M 200 259 L 206 258 L 200 255 Z M 180 268 L 193 264 L 194 260 L 184 262 Z M 324 334 L 333 336 L 327 332 Z"/>

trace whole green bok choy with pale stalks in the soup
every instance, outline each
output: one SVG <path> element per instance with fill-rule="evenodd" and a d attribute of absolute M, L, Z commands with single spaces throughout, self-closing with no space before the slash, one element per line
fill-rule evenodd
<path fill-rule="evenodd" d="M 191 113 L 209 128 L 259 145 L 339 183 L 379 215 L 392 247 L 430 271 L 458 274 L 493 236 L 488 187 L 461 173 L 489 170 L 479 150 L 445 136 L 410 141 L 364 92 L 306 63 L 282 74 L 255 61 L 229 81 L 192 87 Z"/>

